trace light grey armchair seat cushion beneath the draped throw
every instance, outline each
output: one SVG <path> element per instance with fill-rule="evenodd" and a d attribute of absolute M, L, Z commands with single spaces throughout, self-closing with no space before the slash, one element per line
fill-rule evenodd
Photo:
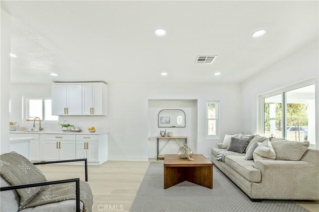
<path fill-rule="evenodd" d="M 75 200 L 65 200 L 57 203 L 49 203 L 41 206 L 23 209 L 19 212 L 75 212 Z M 83 203 L 80 201 L 80 212 L 83 211 Z"/>

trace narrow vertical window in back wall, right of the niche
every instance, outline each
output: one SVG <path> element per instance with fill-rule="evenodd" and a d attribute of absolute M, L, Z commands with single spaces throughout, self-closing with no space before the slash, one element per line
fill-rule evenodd
<path fill-rule="evenodd" d="M 219 101 L 206 102 L 206 137 L 219 136 Z"/>

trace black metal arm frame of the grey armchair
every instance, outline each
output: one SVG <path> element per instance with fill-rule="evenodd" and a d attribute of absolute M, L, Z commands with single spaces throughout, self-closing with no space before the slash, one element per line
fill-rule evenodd
<path fill-rule="evenodd" d="M 74 159 L 74 160 L 37 162 L 37 163 L 33 163 L 33 164 L 34 165 L 41 165 L 41 164 L 68 163 L 68 162 L 77 162 L 77 161 L 84 161 L 85 181 L 87 182 L 88 181 L 88 160 L 86 158 Z M 72 179 L 65 179 L 65 180 L 56 180 L 56 181 L 47 181 L 47 182 L 41 182 L 41 183 L 31 183 L 31 184 L 22 184 L 22 185 L 16 185 L 16 186 L 1 187 L 0 192 L 15 190 L 15 189 L 25 189 L 25 188 L 30 188 L 30 187 L 49 186 L 49 185 L 62 184 L 62 183 L 73 183 L 73 182 L 75 182 L 76 212 L 80 212 L 80 178 L 72 178 Z"/>

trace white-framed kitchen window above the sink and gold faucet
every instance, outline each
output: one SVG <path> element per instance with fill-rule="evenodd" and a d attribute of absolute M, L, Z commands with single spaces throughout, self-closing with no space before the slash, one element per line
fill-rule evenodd
<path fill-rule="evenodd" d="M 39 117 L 43 122 L 57 122 L 58 116 L 52 115 L 51 109 L 51 97 L 41 96 L 41 97 L 32 97 L 24 96 L 23 97 L 23 121 L 33 121 L 35 117 Z"/>

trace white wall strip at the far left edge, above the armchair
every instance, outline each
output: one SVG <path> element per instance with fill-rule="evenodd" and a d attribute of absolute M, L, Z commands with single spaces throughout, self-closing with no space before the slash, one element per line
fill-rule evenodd
<path fill-rule="evenodd" d="M 0 72 L 0 143 L 1 154 L 9 152 L 9 96 L 10 96 L 10 51 L 11 15 L 1 13 L 1 72 Z"/>

